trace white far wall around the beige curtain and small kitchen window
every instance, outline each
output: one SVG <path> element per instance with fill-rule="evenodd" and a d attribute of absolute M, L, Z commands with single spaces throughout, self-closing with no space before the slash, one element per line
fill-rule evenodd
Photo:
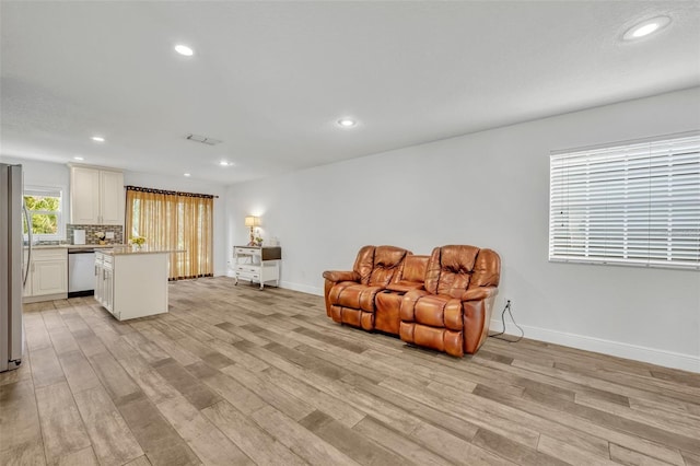
<path fill-rule="evenodd" d="M 28 159 L 2 156 L 3 163 L 21 163 L 24 167 L 24 184 L 34 186 L 60 186 L 63 189 L 66 201 L 66 223 L 70 223 L 70 171 L 67 165 L 42 162 Z M 155 189 L 179 190 L 186 193 L 202 193 L 219 196 L 214 199 L 213 223 L 213 254 L 214 275 L 226 273 L 225 253 L 225 188 L 222 185 L 201 182 L 197 179 L 178 178 L 172 176 L 153 175 L 149 173 L 124 172 L 125 185 L 142 186 Z M 65 235 L 66 232 L 63 231 Z M 126 237 L 126 236 L 125 236 Z"/>

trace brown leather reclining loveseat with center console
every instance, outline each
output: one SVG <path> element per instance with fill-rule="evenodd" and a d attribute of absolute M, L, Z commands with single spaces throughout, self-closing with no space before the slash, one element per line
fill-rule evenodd
<path fill-rule="evenodd" d="M 340 324 L 462 357 L 488 335 L 500 273 L 491 249 L 442 246 L 415 256 L 364 246 L 352 271 L 324 272 L 326 313 Z"/>

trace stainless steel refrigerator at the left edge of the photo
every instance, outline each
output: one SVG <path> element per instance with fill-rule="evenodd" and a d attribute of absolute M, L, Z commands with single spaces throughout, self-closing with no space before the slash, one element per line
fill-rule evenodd
<path fill-rule="evenodd" d="M 23 201 L 22 165 L 0 164 L 0 372 L 22 363 L 22 292 L 31 260 L 32 224 Z M 23 221 L 27 225 L 24 248 Z M 25 257 L 26 254 L 26 257 Z"/>

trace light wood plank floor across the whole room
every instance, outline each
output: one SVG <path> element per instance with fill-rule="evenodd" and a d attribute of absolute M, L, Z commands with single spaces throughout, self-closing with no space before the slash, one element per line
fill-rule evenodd
<path fill-rule="evenodd" d="M 532 340 L 454 359 L 289 290 L 182 281 L 165 315 L 75 299 L 25 327 L 2 465 L 700 465 L 700 374 Z"/>

